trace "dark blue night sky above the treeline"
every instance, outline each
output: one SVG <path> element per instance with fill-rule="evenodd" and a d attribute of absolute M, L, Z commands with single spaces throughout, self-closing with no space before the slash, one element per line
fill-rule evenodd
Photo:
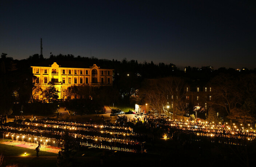
<path fill-rule="evenodd" d="M 256 1 L 1 0 L 0 52 L 256 67 Z"/>

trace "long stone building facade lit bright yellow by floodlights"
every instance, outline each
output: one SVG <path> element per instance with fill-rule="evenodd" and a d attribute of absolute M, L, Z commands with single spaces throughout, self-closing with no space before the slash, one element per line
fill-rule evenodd
<path fill-rule="evenodd" d="M 68 65 L 67 65 L 68 66 Z M 64 92 L 71 86 L 88 86 L 94 91 L 101 86 L 113 85 L 113 69 L 101 69 L 96 64 L 88 68 L 65 67 L 54 62 L 46 66 L 31 66 L 38 87 L 45 90 L 54 82 L 59 99 L 66 99 Z M 38 91 L 35 89 L 34 91 Z M 34 99 L 43 100 L 40 92 L 33 92 Z M 73 97 L 74 98 L 74 97 Z"/>

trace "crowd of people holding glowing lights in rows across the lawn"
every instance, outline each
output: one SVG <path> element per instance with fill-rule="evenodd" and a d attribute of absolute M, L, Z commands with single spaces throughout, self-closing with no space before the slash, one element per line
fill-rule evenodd
<path fill-rule="evenodd" d="M 161 133 L 157 133 L 159 130 Z M 16 142 L 55 147 L 63 146 L 62 136 L 68 133 L 71 138 L 69 142 L 73 143 L 74 149 L 89 146 L 128 152 L 145 151 L 145 143 L 154 143 L 155 138 L 246 146 L 248 142 L 255 140 L 256 135 L 251 128 L 246 129 L 238 124 L 162 119 L 153 116 L 137 121 L 133 126 L 47 119 L 23 120 L 16 122 L 14 126 L 3 124 L 0 131 L 5 138 Z"/>

